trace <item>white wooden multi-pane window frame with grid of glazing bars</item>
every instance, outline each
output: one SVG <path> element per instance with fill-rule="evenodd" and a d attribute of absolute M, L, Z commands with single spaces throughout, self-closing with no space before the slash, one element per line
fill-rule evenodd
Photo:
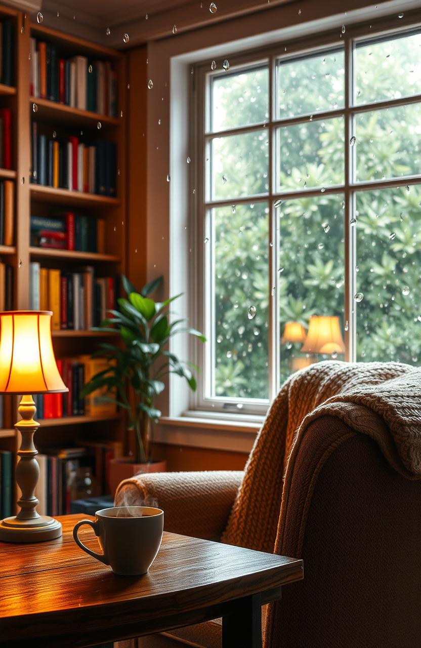
<path fill-rule="evenodd" d="M 240 54 L 233 54 L 226 58 L 230 62 L 230 73 L 236 69 L 246 69 L 258 67 L 264 60 L 267 61 L 269 70 L 269 117 L 264 127 L 269 133 L 269 159 L 268 159 L 268 180 L 269 188 L 264 196 L 247 196 L 247 198 L 229 198 L 227 200 L 207 200 L 209 192 L 205 187 L 205 154 L 210 139 L 225 134 L 236 132 L 251 132 L 262 128 L 263 122 L 251 126 L 239 127 L 234 129 L 220 130 L 210 132 L 207 128 L 207 113 L 205 108 L 209 107 L 209 86 L 212 76 L 223 76 L 222 61 L 219 62 L 218 68 L 212 72 L 210 70 L 209 60 L 201 61 L 192 67 L 194 75 L 194 86 L 192 91 L 192 110 L 196 115 L 196 127 L 190 132 L 191 150 L 194 151 L 196 164 L 192 172 L 192 187 L 195 189 L 195 200 L 190 214 L 190 223 L 194 236 L 194 260 L 190 264 L 190 276 L 194 282 L 192 295 L 192 308 L 190 316 L 196 321 L 198 328 L 205 332 L 208 340 L 210 334 L 214 331 L 214 318 L 209 317 L 212 312 L 210 304 L 212 293 L 207 285 L 205 268 L 210 268 L 210 246 L 203 245 L 205 238 L 212 240 L 209 229 L 209 213 L 212 207 L 231 205 L 233 201 L 238 205 L 249 202 L 266 202 L 269 205 L 269 227 L 268 227 L 268 249 L 269 249 L 269 281 L 267 290 L 270 294 L 271 286 L 277 284 L 277 259 L 279 255 L 279 226 L 277 224 L 277 214 L 273 207 L 273 202 L 277 199 L 287 200 L 288 198 L 302 198 L 304 196 L 319 196 L 320 188 L 305 189 L 291 192 L 276 191 L 276 157 L 274 151 L 277 146 L 277 130 L 280 126 L 290 124 L 307 123 L 310 113 L 299 115 L 292 118 L 277 117 L 277 61 L 297 60 L 306 56 L 317 54 L 318 52 L 337 51 L 343 47 L 345 58 L 345 96 L 343 108 L 335 110 L 322 111 L 313 113 L 312 121 L 328 119 L 329 117 L 342 117 L 344 119 L 344 179 L 343 185 L 332 185 L 325 188 L 324 194 L 342 193 L 345 200 L 345 209 L 343 210 L 343 234 L 344 234 L 344 321 L 348 321 L 348 328 L 343 331 L 345 341 L 345 360 L 347 362 L 356 361 L 356 309 L 354 308 L 353 295 L 356 292 L 356 228 L 350 227 L 350 219 L 356 210 L 356 195 L 359 191 L 370 191 L 372 189 L 387 189 L 391 187 L 400 187 L 405 185 L 415 185 L 421 183 L 421 173 L 413 176 L 402 176 L 393 179 L 378 179 L 372 181 L 356 181 L 356 151 L 349 145 L 350 137 L 354 133 L 355 115 L 370 110 L 381 110 L 381 108 L 392 108 L 394 106 L 403 106 L 412 103 L 421 104 L 421 93 L 400 97 L 390 100 L 380 100 L 368 102 L 367 104 L 356 104 L 354 97 L 354 69 L 353 54 L 359 43 L 370 43 L 393 38 L 393 36 L 405 36 L 412 32 L 421 30 L 421 14 L 419 11 L 411 12 L 409 19 L 405 24 L 399 26 L 396 24 L 396 14 L 388 16 L 373 25 L 367 21 L 358 22 L 346 27 L 345 34 L 338 34 L 338 30 L 328 30 L 313 37 L 294 39 L 270 45 Z M 282 51 L 283 50 L 283 51 Z M 208 102 L 208 103 L 207 103 Z M 209 175 L 209 174 L 208 174 Z M 273 242 L 273 246 L 269 246 Z M 208 265 L 207 265 L 208 264 Z M 211 273 L 213 276 L 213 273 Z M 209 325 L 211 329 L 209 330 Z M 201 371 L 198 376 L 198 390 L 192 399 L 192 410 L 205 412 L 225 412 L 225 413 L 242 413 L 250 415 L 264 414 L 270 402 L 275 397 L 279 389 L 280 376 L 280 318 L 279 318 L 279 295 L 278 291 L 275 297 L 269 299 L 269 332 L 268 332 L 268 400 L 241 399 L 227 397 L 209 397 L 207 389 L 209 388 L 210 371 L 207 369 L 208 364 L 213 367 L 212 353 L 214 343 L 203 345 L 202 349 L 198 346 L 192 347 L 192 358 L 199 365 Z"/>

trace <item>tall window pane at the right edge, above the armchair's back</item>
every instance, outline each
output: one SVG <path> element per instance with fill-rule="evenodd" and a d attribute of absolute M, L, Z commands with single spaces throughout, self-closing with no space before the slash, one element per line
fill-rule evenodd
<path fill-rule="evenodd" d="M 420 186 L 357 194 L 358 360 L 421 360 L 420 202 Z"/>

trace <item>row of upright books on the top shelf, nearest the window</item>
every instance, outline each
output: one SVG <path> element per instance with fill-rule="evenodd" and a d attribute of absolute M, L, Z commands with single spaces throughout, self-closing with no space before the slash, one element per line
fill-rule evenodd
<path fill-rule="evenodd" d="M 30 40 L 30 93 L 72 108 L 117 115 L 117 73 L 110 62 L 62 58 L 52 43 Z"/>

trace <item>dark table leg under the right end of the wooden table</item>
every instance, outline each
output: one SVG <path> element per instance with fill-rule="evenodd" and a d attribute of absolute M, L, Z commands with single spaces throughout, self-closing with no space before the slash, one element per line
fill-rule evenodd
<path fill-rule="evenodd" d="M 239 601 L 238 611 L 222 617 L 222 648 L 262 648 L 262 598 Z"/>

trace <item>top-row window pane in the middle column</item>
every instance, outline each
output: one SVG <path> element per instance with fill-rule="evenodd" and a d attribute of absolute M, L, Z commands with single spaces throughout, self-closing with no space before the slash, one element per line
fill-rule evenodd
<path fill-rule="evenodd" d="M 343 108 L 343 50 L 278 64 L 278 117 L 296 117 Z"/>

